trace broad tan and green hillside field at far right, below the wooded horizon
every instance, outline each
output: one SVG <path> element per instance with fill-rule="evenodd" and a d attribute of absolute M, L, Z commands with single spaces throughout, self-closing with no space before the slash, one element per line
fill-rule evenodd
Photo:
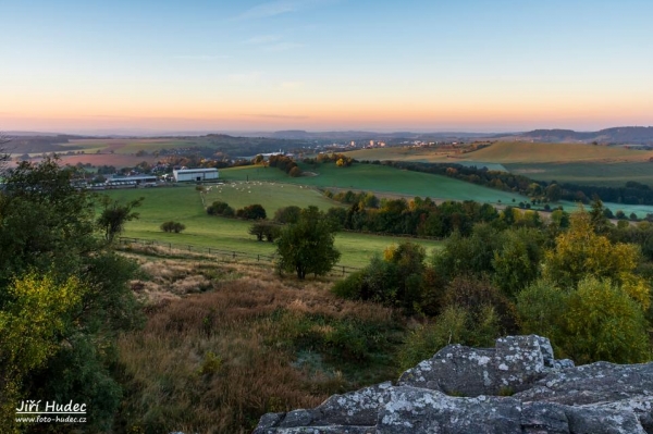
<path fill-rule="evenodd" d="M 637 181 L 653 187 L 653 151 L 584 144 L 497 142 L 454 154 L 422 148 L 378 148 L 348 152 L 359 160 L 455 163 L 506 170 L 538 181 L 618 187 Z"/>

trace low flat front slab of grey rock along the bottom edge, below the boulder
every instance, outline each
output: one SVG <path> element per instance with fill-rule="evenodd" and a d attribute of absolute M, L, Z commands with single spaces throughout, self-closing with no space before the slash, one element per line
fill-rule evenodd
<path fill-rule="evenodd" d="M 393 387 L 379 413 L 378 434 L 645 434 L 632 412 L 522 402 L 513 397 L 455 398 Z"/>

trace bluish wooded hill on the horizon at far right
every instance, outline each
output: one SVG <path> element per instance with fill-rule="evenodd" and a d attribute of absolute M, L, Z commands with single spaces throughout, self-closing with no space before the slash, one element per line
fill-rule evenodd
<path fill-rule="evenodd" d="M 653 127 L 618 126 L 599 132 L 575 132 L 571 129 L 534 129 L 528 133 L 496 135 L 492 138 L 519 139 L 545 142 L 597 142 L 602 145 L 653 145 Z"/>

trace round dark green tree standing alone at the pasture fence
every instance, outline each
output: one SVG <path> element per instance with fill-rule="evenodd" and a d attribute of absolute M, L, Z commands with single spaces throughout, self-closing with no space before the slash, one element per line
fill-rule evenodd
<path fill-rule="evenodd" d="M 334 238 L 333 225 L 317 207 L 303 209 L 297 223 L 283 227 L 276 240 L 281 270 L 295 272 L 298 278 L 328 273 L 341 256 Z"/>

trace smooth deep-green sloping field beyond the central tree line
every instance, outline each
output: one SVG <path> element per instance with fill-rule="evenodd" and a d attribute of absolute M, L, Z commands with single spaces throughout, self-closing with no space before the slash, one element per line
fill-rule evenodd
<path fill-rule="evenodd" d="M 389 193 L 432 199 L 476 200 L 486 203 L 518 202 L 525 198 L 508 191 L 465 183 L 446 176 L 418 173 L 374 164 L 355 164 L 337 168 L 335 164 L 321 164 L 316 169 L 303 166 L 317 176 L 289 177 L 274 168 L 243 166 L 220 171 L 220 176 L 229 181 L 271 181 L 315 186 L 322 188 L 352 188 L 366 191 Z"/>

